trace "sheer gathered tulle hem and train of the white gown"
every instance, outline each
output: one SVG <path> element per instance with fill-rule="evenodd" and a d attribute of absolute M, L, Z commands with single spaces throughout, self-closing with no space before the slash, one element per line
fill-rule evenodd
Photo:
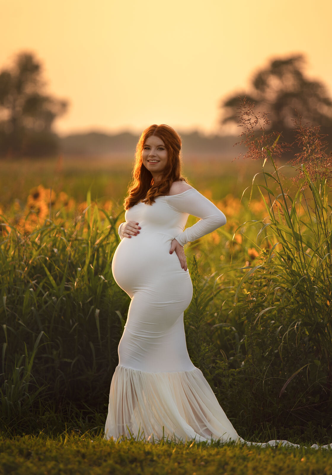
<path fill-rule="evenodd" d="M 258 447 L 300 447 L 287 440 L 265 443 L 238 435 L 200 369 L 148 372 L 118 365 L 111 381 L 104 439 L 157 443 L 235 442 Z M 332 444 L 311 448 L 332 448 Z"/>

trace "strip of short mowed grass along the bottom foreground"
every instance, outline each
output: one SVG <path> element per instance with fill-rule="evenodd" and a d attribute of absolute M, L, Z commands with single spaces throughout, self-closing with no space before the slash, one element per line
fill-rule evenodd
<path fill-rule="evenodd" d="M 115 443 L 74 433 L 0 439 L 1 474 L 332 474 L 332 451 L 224 444 Z"/>

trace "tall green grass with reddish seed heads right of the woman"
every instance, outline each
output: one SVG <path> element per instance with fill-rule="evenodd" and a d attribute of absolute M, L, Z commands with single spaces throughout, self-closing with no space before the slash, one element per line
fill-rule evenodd
<path fill-rule="evenodd" d="M 273 158 L 277 140 L 264 147 L 266 156 L 261 161 L 265 184 L 258 189 L 267 215 L 241 223 L 232 237 L 243 233 L 243 242 L 257 247 L 259 259 L 238 268 L 242 276 L 238 274 L 235 281 L 226 265 L 222 274 L 226 285 L 218 288 L 218 292 L 227 289 L 232 297 L 221 302 L 222 312 L 217 314 L 221 321 L 212 327 L 221 353 L 212 380 L 226 412 L 243 430 L 276 428 L 278 438 L 287 438 L 294 428 L 306 437 L 314 430 L 315 437 L 329 443 L 332 207 L 328 170 L 318 170 L 312 156 L 311 176 L 301 163 L 298 170 L 304 179 L 295 180 L 295 186 L 286 190 L 280 171 L 286 166 L 279 168 Z M 267 160 L 273 173 L 264 170 Z M 227 236 L 223 228 L 221 233 Z M 240 398 L 230 404 L 236 393 Z"/>

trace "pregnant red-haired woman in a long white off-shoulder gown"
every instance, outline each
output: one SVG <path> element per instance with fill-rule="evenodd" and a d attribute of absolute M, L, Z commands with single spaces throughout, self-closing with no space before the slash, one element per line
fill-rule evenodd
<path fill-rule="evenodd" d="M 184 310 L 193 286 L 183 246 L 226 224 L 226 217 L 181 176 L 180 150 L 181 138 L 165 124 L 148 127 L 137 144 L 112 261 L 131 302 L 104 438 L 245 442 L 187 352 Z M 201 219 L 184 230 L 189 215 Z"/>

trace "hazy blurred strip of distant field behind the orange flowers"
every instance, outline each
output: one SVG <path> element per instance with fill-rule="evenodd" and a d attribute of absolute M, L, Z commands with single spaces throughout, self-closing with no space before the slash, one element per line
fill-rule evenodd
<path fill-rule="evenodd" d="M 193 158 L 183 165 L 183 174 L 199 191 L 206 191 L 214 199 L 228 193 L 240 197 L 251 182 L 254 173 L 260 171 L 255 161 Z M 131 179 L 133 159 L 123 157 L 110 159 L 91 157 L 0 162 L 0 205 L 7 207 L 18 199 L 25 203 L 30 190 L 42 184 L 59 193 L 64 191 L 76 201 L 86 199 L 90 186 L 92 200 L 124 199 Z M 272 171 L 272 167 L 267 167 Z M 289 171 L 287 171 L 289 173 Z M 255 191 L 255 195 L 258 196 Z"/>

